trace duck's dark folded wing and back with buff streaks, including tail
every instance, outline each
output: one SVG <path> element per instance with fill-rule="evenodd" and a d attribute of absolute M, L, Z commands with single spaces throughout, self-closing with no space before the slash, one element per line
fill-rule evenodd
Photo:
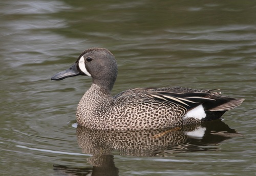
<path fill-rule="evenodd" d="M 207 114 L 206 120 L 220 118 L 226 111 L 242 104 L 244 99 L 222 96 L 221 92 L 214 92 L 218 89 L 202 90 L 185 87 L 164 87 L 164 88 L 135 88 L 123 91 L 115 98 L 140 94 L 147 99 L 154 99 L 158 102 L 165 102 L 181 106 L 187 112 L 202 105 Z"/>

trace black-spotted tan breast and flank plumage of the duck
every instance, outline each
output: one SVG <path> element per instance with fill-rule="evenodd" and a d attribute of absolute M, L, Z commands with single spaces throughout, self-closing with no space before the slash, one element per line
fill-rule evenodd
<path fill-rule="evenodd" d="M 78 124 L 105 130 L 169 128 L 180 125 L 186 113 L 183 107 L 167 101 L 160 103 L 142 93 L 113 98 L 99 90 L 100 87 L 93 84 L 83 95 L 77 107 Z"/>

